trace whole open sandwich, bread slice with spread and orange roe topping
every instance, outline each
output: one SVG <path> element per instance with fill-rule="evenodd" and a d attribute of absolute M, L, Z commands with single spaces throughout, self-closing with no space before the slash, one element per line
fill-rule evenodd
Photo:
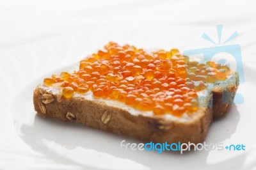
<path fill-rule="evenodd" d="M 177 49 L 148 53 L 109 42 L 73 73 L 45 78 L 33 102 L 40 116 L 147 142 L 201 143 L 212 120 L 230 108 L 238 84 L 238 74 L 227 66 L 199 65 Z"/>

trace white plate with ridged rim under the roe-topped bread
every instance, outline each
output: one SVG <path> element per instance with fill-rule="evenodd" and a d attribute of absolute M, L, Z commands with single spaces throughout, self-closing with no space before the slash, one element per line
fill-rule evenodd
<path fill-rule="evenodd" d="M 161 30 L 160 37 L 168 30 Z M 186 154 L 156 151 L 121 151 L 120 142 L 140 143 L 123 135 L 102 132 L 76 123 L 67 123 L 36 116 L 33 109 L 33 89 L 43 77 L 74 65 L 108 42 L 109 36 L 77 34 L 45 40 L 3 54 L 0 73 L 4 90 L 1 93 L 0 168 L 4 169 L 253 169 L 256 166 L 255 97 L 256 71 L 244 66 L 246 82 L 238 93 L 244 104 L 232 105 L 223 118 L 214 121 L 207 143 L 244 144 L 246 151 L 189 151 Z M 116 33 L 112 40 L 134 42 L 142 47 L 154 47 L 145 40 L 147 31 Z M 173 44 L 166 40 L 165 44 Z M 186 35 L 184 35 L 186 36 Z M 136 37 L 132 40 L 131 37 Z M 159 37 L 157 35 L 156 37 Z M 141 40 L 145 40 L 141 43 Z M 95 41 L 99 40 L 99 42 Z M 156 47 L 163 41 L 157 38 Z M 140 43 L 138 43 L 140 42 Z M 182 48 L 189 46 L 184 44 Z M 166 47 L 166 46 L 165 46 Z M 69 65 L 69 66 L 65 66 Z M 19 85 L 22 88 L 17 88 Z M 12 100 L 10 97 L 13 97 Z M 6 113 L 6 106 L 9 110 Z M 8 120 L 8 121 L 6 121 Z M 14 127 L 14 128 L 13 128 Z M 13 164 L 17 160 L 20 166 Z"/>

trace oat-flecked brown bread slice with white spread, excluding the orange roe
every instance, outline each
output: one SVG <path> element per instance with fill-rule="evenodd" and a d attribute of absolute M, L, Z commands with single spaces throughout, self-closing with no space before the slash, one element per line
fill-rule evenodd
<path fill-rule="evenodd" d="M 91 92 L 61 98 L 61 89 L 39 84 L 33 96 L 35 111 L 40 116 L 83 123 L 108 132 L 131 135 L 154 143 L 202 143 L 213 119 L 228 111 L 236 95 L 239 77 L 232 72 L 225 81 L 216 81 L 198 92 L 200 108 L 180 117 L 156 116 L 117 100 L 94 98 Z"/>

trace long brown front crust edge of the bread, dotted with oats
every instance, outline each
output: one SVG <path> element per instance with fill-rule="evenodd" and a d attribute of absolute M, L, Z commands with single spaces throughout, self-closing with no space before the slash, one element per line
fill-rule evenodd
<path fill-rule="evenodd" d="M 52 95 L 54 101 L 43 104 L 42 95 L 44 94 Z M 34 91 L 33 102 L 35 111 L 38 112 L 39 116 L 83 123 L 89 127 L 131 135 L 142 141 L 154 143 L 201 143 L 204 141 L 212 121 L 211 107 L 198 109 L 196 116 L 191 120 L 172 121 L 161 116 L 143 116 L 140 114 L 134 116 L 122 108 L 111 107 L 86 98 L 73 97 L 68 100 L 63 98 L 60 101 L 57 95 L 53 95 L 51 91 L 40 88 L 40 86 Z M 39 104 L 44 105 L 45 112 L 40 109 Z M 74 120 L 68 119 L 66 117 L 68 112 L 74 114 L 76 118 Z M 109 121 L 102 120 L 104 114 L 105 118 L 109 118 L 110 115 Z"/>

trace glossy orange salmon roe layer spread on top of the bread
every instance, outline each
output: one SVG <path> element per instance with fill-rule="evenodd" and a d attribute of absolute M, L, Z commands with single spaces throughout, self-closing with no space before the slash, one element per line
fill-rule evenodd
<path fill-rule="evenodd" d="M 208 82 L 224 81 L 229 73 L 228 66 L 212 61 L 189 61 L 178 49 L 146 52 L 109 42 L 80 61 L 79 70 L 47 77 L 44 85 L 61 88 L 67 99 L 91 91 L 95 98 L 118 100 L 141 111 L 181 116 L 198 110 L 197 91 Z"/>

